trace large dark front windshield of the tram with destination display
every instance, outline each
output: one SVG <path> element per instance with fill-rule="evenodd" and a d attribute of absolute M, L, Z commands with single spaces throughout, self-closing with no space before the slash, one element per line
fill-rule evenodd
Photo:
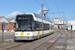
<path fill-rule="evenodd" d="M 31 30 L 32 18 L 30 15 L 17 16 L 16 30 Z"/>

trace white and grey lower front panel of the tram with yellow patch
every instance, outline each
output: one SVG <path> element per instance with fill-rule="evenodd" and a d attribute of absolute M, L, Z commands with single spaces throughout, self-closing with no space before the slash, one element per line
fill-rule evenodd
<path fill-rule="evenodd" d="M 33 32 L 15 32 L 14 40 L 33 40 Z"/>

